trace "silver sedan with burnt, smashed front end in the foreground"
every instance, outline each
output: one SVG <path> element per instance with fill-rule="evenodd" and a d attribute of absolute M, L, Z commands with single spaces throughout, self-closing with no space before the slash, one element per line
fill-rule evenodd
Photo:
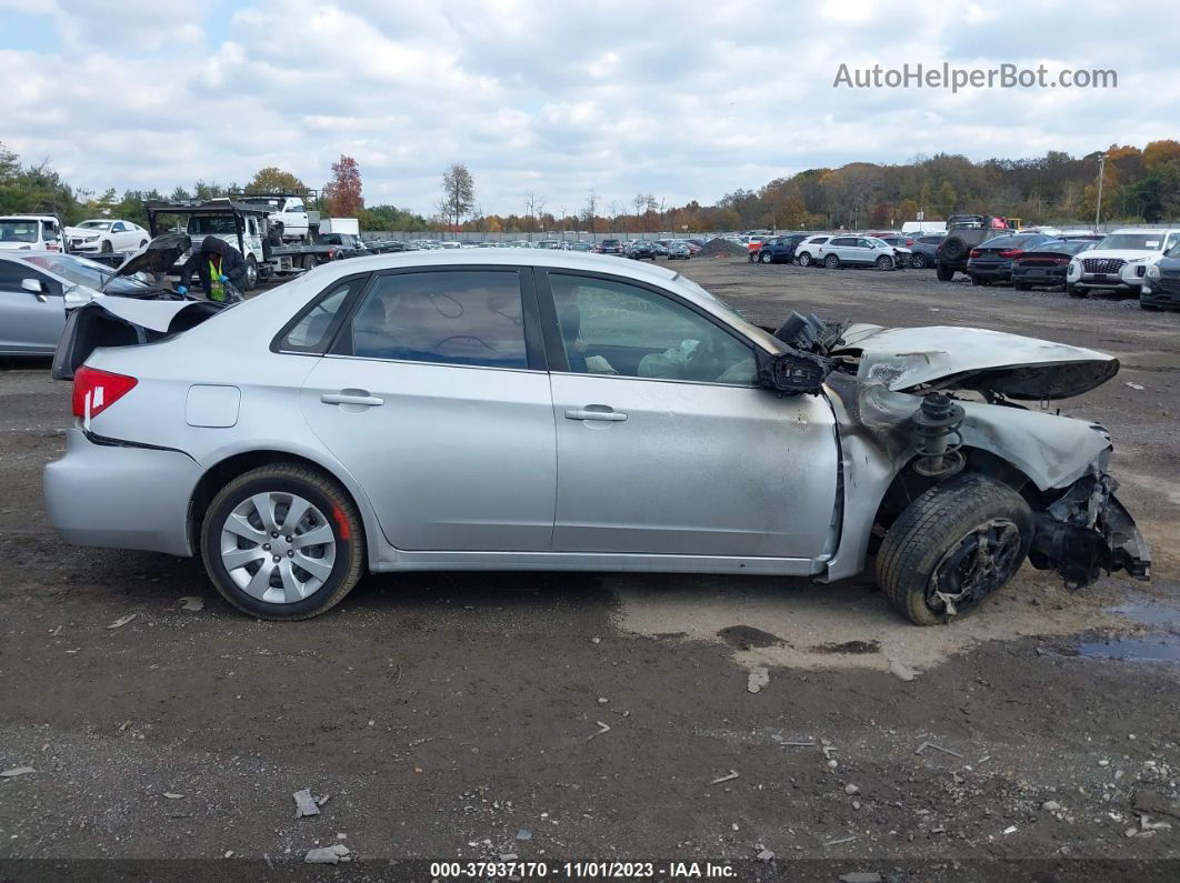
<path fill-rule="evenodd" d="M 920 625 L 1028 559 L 1147 579 L 1084 393 L 1110 356 L 963 328 L 758 328 L 678 274 L 562 251 L 320 266 L 228 309 L 106 298 L 45 472 L 71 542 L 201 555 L 247 613 L 365 572 L 853 576 Z"/>

